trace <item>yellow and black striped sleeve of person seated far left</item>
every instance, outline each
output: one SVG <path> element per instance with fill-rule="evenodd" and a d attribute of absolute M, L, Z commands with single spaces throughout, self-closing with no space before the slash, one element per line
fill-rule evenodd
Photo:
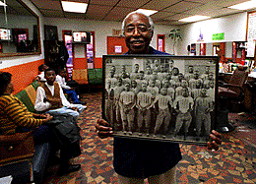
<path fill-rule="evenodd" d="M 23 102 L 13 95 L 1 97 L 0 105 L 10 121 L 17 126 L 36 127 L 43 122 L 42 119 L 35 119 Z"/>

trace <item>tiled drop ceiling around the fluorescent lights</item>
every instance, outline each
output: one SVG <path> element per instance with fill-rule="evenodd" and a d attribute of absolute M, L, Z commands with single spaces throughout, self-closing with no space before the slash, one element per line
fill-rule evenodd
<path fill-rule="evenodd" d="M 64 12 L 61 0 L 31 1 L 46 18 L 120 22 L 128 13 L 142 8 L 159 11 L 151 16 L 155 24 L 178 26 L 187 24 L 178 20 L 194 15 L 219 18 L 243 12 L 226 7 L 248 0 L 72 0 L 89 4 L 85 14 Z"/>

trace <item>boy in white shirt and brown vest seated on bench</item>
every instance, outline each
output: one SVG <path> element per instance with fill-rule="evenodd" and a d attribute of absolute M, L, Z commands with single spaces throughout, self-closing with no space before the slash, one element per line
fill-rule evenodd
<path fill-rule="evenodd" d="M 72 104 L 67 100 L 60 85 L 55 82 L 56 74 L 53 69 L 45 70 L 44 74 L 46 83 L 37 88 L 34 109 L 39 112 L 69 114 L 78 119 L 87 106 Z"/>

